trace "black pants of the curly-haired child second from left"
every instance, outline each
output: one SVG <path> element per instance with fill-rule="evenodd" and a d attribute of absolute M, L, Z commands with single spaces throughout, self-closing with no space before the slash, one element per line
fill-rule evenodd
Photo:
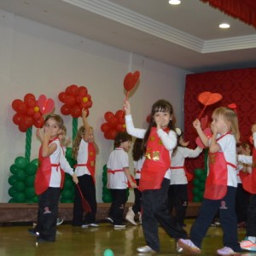
<path fill-rule="evenodd" d="M 88 212 L 84 216 L 84 209 L 82 206 L 81 195 L 77 185 L 75 185 L 75 195 L 73 201 L 73 226 L 81 226 L 82 224 L 94 224 L 96 222 L 96 211 L 97 211 L 97 203 L 96 203 L 96 188 L 93 178 L 84 174 L 83 176 L 79 176 L 79 188 L 84 195 L 86 201 L 88 201 L 91 212 Z"/>

